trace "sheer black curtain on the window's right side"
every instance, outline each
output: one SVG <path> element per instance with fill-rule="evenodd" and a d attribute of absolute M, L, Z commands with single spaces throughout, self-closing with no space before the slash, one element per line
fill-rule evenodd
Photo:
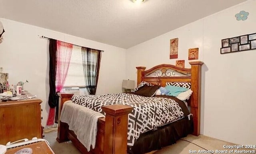
<path fill-rule="evenodd" d="M 101 51 L 82 47 L 82 58 L 86 89 L 88 94 L 95 95 L 100 72 Z"/>

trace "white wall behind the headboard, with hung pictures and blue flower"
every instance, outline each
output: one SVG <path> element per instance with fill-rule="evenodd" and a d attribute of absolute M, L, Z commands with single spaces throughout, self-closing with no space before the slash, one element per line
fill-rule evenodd
<path fill-rule="evenodd" d="M 221 39 L 256 33 L 256 0 L 228 8 L 136 45 L 126 53 L 127 78 L 136 66 L 188 63 L 188 49 L 199 48 L 202 66 L 201 134 L 236 144 L 256 144 L 256 50 L 220 54 Z M 234 17 L 249 12 L 245 21 Z M 171 17 L 170 17 L 171 18 Z M 178 59 L 169 59 L 170 39 L 179 38 Z"/>

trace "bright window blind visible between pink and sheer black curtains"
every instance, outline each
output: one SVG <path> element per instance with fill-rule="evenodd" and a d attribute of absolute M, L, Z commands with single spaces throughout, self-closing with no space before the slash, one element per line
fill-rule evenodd
<path fill-rule="evenodd" d="M 73 45 L 64 87 L 85 87 L 81 47 Z"/>

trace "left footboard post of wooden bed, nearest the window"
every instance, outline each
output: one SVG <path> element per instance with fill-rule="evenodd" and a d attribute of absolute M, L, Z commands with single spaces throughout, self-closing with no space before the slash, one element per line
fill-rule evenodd
<path fill-rule="evenodd" d="M 68 124 L 60 121 L 60 113 L 65 101 L 71 100 L 73 93 L 58 93 L 59 96 L 59 112 L 58 112 L 58 136 L 56 140 L 60 142 L 68 141 Z"/>

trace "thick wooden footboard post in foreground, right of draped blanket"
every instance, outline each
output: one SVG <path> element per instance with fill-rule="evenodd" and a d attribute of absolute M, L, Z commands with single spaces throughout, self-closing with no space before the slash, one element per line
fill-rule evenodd
<path fill-rule="evenodd" d="M 104 154 L 127 154 L 128 105 L 102 106 L 105 116 Z"/>

